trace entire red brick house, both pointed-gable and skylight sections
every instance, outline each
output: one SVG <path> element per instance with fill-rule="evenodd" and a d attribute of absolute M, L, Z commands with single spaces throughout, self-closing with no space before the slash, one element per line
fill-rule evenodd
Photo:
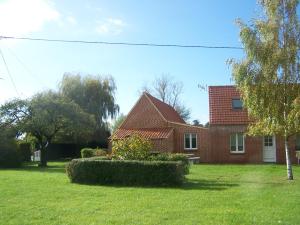
<path fill-rule="evenodd" d="M 186 124 L 166 103 L 143 93 L 112 140 L 139 134 L 152 141 L 155 151 L 193 153 L 207 163 L 285 163 L 281 137 L 245 135 L 249 123 L 240 94 L 234 86 L 209 87 L 210 128 Z M 297 162 L 300 136 L 290 140 L 293 163 Z"/>

